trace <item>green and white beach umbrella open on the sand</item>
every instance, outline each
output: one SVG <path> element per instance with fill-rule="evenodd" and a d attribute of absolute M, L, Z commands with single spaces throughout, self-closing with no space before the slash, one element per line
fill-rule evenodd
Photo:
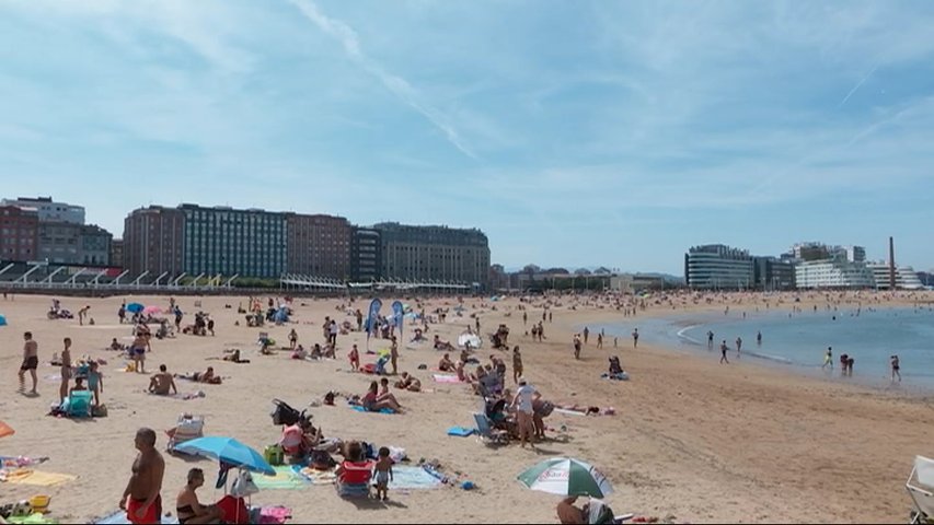
<path fill-rule="evenodd" d="M 603 498 L 613 492 L 613 487 L 600 470 L 569 457 L 545 459 L 517 479 L 532 490 L 550 494 Z"/>

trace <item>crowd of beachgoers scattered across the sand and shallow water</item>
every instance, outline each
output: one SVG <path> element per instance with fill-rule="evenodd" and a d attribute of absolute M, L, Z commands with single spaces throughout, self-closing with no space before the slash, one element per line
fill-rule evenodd
<path fill-rule="evenodd" d="M 858 298 L 861 305 L 862 302 L 873 303 L 876 300 L 875 296 L 862 296 L 860 294 L 856 294 L 856 298 Z M 809 296 L 808 299 L 814 300 L 816 298 Z M 826 300 L 827 308 L 835 308 L 842 304 L 853 304 L 853 301 L 856 299 L 852 295 L 841 293 L 827 294 Z M 635 298 L 616 293 L 606 293 L 587 296 L 545 298 L 535 304 L 537 307 L 541 307 L 542 310 L 541 319 L 531 320 L 530 323 L 529 312 L 532 301 L 523 300 L 520 301 L 516 312 L 520 311 L 522 313 L 522 325 L 527 328 L 524 335 L 526 337 L 531 336 L 531 342 L 543 342 L 546 339 L 544 337 L 544 325 L 553 322 L 553 310 L 562 306 L 562 302 L 568 303 L 565 305 L 567 310 L 576 310 L 578 306 L 614 308 L 622 313 L 625 318 L 644 315 L 644 313 L 652 307 L 671 307 L 673 310 L 678 306 L 688 307 L 690 305 L 699 304 L 710 306 L 723 305 L 725 306 L 724 315 L 729 315 L 730 306 L 734 307 L 734 311 L 739 307 L 748 310 L 754 308 L 754 311 L 758 312 L 760 307 L 770 310 L 772 307 L 777 308 L 782 305 L 791 304 L 793 314 L 798 313 L 800 310 L 791 294 L 757 295 L 666 292 L 650 298 Z M 287 300 L 287 303 L 291 303 L 290 299 Z M 249 304 L 251 312 L 262 312 L 262 304 L 258 299 L 254 300 L 251 298 Z M 270 298 L 268 300 L 268 311 L 279 312 L 284 307 L 282 305 L 277 307 L 276 304 L 277 302 Z M 282 347 L 281 349 L 287 349 L 289 351 L 289 357 L 296 360 L 336 360 L 341 342 L 338 337 L 347 335 L 350 331 L 359 332 L 366 329 L 361 311 L 359 308 L 353 308 L 351 306 L 353 302 L 349 306 L 344 304 L 338 306 L 338 310 L 344 313 L 345 317 L 348 317 L 347 320 L 342 322 L 338 318 L 332 318 L 331 316 L 327 316 L 324 319 L 321 325 L 321 341 L 313 342 L 310 350 L 305 350 L 305 348 L 300 343 L 301 337 L 295 327 L 289 328 L 287 336 L 288 347 Z M 94 323 L 94 319 L 90 317 L 90 306 L 85 306 L 79 310 L 79 326 L 83 326 L 85 320 L 89 324 Z M 448 320 L 447 316 L 451 315 L 450 311 L 448 308 L 437 308 L 431 315 L 426 315 L 424 308 L 420 306 L 417 306 L 417 308 L 420 310 L 420 313 L 415 316 L 415 319 L 417 320 L 413 319 L 413 324 L 418 323 L 419 328 L 415 330 L 415 336 L 410 340 L 410 343 L 420 345 L 423 342 L 431 342 L 424 337 L 424 334 L 433 329 L 429 325 L 435 323 L 442 324 Z M 817 308 L 817 305 L 815 305 L 815 308 Z M 61 312 L 64 310 L 65 308 L 61 307 L 58 300 L 55 300 L 51 311 Z M 175 334 L 192 336 L 207 336 L 208 334 L 211 336 L 215 335 L 214 319 L 209 314 L 200 311 L 195 314 L 193 325 L 182 328 L 181 324 L 184 314 L 182 313 L 180 305 L 176 304 L 174 298 L 171 298 L 170 307 L 165 312 L 174 316 L 174 332 L 171 331 L 169 319 L 153 317 L 152 315 L 143 315 L 141 312 L 132 313 L 132 316 L 127 319 L 127 305 L 126 303 L 123 303 L 117 316 L 120 325 L 124 325 L 127 320 L 131 324 L 131 342 L 124 346 L 117 340 L 117 338 L 113 338 L 106 348 L 126 352 L 131 360 L 131 370 L 139 374 L 147 374 L 146 361 L 148 357 L 150 359 L 152 357 L 153 337 L 155 339 L 163 339 L 166 337 L 173 337 Z M 509 313 L 511 314 L 512 311 Z M 457 314 L 460 315 L 460 312 L 457 312 Z M 742 312 L 742 315 L 745 317 L 746 312 Z M 531 327 L 529 327 L 529 324 L 531 324 Z M 149 328 L 150 325 L 158 326 L 155 334 L 153 334 Z M 482 337 L 478 315 L 475 316 L 472 325 L 473 326 L 470 324 L 466 325 L 462 335 Z M 360 395 L 345 396 L 349 404 L 358 405 L 365 411 L 390 411 L 397 415 L 405 415 L 407 410 L 400 398 L 396 397 L 396 394 L 393 393 L 393 389 L 395 389 L 396 393 L 400 393 L 400 397 L 403 397 L 403 399 L 404 395 L 417 394 L 424 390 L 422 381 L 415 375 L 415 371 L 402 370 L 403 366 L 401 366 L 399 345 L 401 334 L 399 334 L 399 336 L 396 335 L 396 323 L 385 317 L 381 317 L 373 323 L 372 334 L 378 338 L 377 340 L 388 345 L 388 348 L 384 352 L 367 352 L 377 357 L 377 362 L 372 363 L 372 366 L 361 364 L 361 351 L 356 343 L 351 343 L 347 351 L 346 357 L 349 362 L 350 371 L 354 373 L 371 373 L 374 377 L 369 381 L 365 393 L 361 393 Z M 589 326 L 585 326 L 580 332 L 574 334 L 572 349 L 575 361 L 583 360 L 584 351 L 588 348 L 591 330 Z M 631 336 L 633 350 L 638 350 L 639 331 L 637 327 L 633 328 Z M 547 430 L 547 427 L 544 421 L 549 416 L 551 416 L 557 405 L 546 399 L 545 396 L 527 378 L 529 376 L 529 371 L 524 366 L 520 346 L 515 343 L 509 345 L 508 338 L 509 327 L 507 324 L 499 325 L 495 331 L 488 334 L 488 340 L 491 341 L 494 350 L 496 350 L 496 352 L 488 354 L 488 359 L 480 355 L 481 348 L 478 345 L 474 347 L 471 342 L 474 339 L 471 338 L 464 339 L 464 343 L 453 343 L 442 340 L 440 334 L 436 332 L 434 334 L 434 342 L 431 342 L 430 348 L 434 348 L 439 353 L 442 352 L 438 360 L 437 371 L 456 375 L 459 382 L 469 385 L 470 390 L 482 399 L 484 416 L 488 418 L 494 431 L 500 431 L 509 439 L 518 441 L 522 448 L 529 445 L 532 450 L 535 450 L 537 444 L 541 443 L 545 439 L 545 431 Z M 23 361 L 19 371 L 20 392 L 35 396 L 38 394 L 37 368 L 39 365 L 39 348 L 32 332 L 24 332 L 23 339 Z M 529 339 L 526 339 L 526 341 L 528 340 Z M 606 330 L 600 329 L 596 335 L 596 348 L 603 350 L 606 341 Z M 713 331 L 708 331 L 708 349 L 713 349 L 714 341 L 715 334 Z M 756 343 L 761 346 L 762 342 L 763 337 L 760 331 L 757 334 Z M 618 338 L 614 337 L 614 349 L 618 348 Z M 743 348 L 742 345 L 742 338 L 737 337 L 735 340 L 736 358 L 741 355 Z M 55 365 L 59 366 L 60 373 L 58 392 L 59 402 L 64 405 L 69 396 L 74 395 L 77 392 L 87 390 L 92 394 L 94 406 L 101 406 L 101 397 L 104 393 L 104 377 L 100 371 L 100 362 L 93 359 L 74 359 L 71 353 L 71 339 L 66 337 L 62 340 L 61 351 L 57 352 L 53 359 Z M 427 345 L 426 348 L 428 348 Z M 722 339 L 719 349 L 719 362 L 729 364 L 728 352 L 730 349 L 727 345 L 727 339 Z M 272 355 L 275 354 L 275 350 L 273 340 L 268 337 L 263 339 L 261 336 L 261 354 Z M 249 362 L 249 360 L 242 359 L 239 349 L 231 350 L 226 353 L 227 355 L 218 359 L 238 363 Z M 365 353 L 365 355 L 367 353 Z M 452 355 L 456 355 L 457 359 L 452 359 Z M 509 357 L 511 357 L 511 360 L 509 361 L 509 363 L 511 363 L 511 374 L 509 366 L 507 365 Z M 481 359 L 483 359 L 483 361 L 481 361 Z M 839 362 L 843 375 L 853 375 L 854 361 L 854 358 L 847 353 L 842 353 L 840 355 Z M 833 349 L 828 347 L 825 354 L 823 365 L 821 368 L 829 368 L 830 370 L 833 370 Z M 890 372 L 892 383 L 896 381 L 901 382 L 900 360 L 897 354 L 892 354 L 890 357 Z M 32 389 L 28 392 L 26 392 L 25 385 L 26 373 L 28 373 L 32 378 Z M 511 387 L 507 386 L 508 377 L 510 376 L 512 383 Z M 609 368 L 604 376 L 618 380 L 629 378 L 625 370 L 623 370 L 619 355 L 609 357 Z M 394 381 L 390 381 L 390 377 Z M 185 380 L 203 384 L 222 384 L 223 382 L 223 378 L 215 372 L 212 366 L 207 366 L 204 371 L 199 370 L 191 373 L 173 374 L 169 372 L 168 366 L 163 363 L 158 366 L 158 372 L 149 377 L 149 384 L 146 392 L 159 396 L 177 395 L 178 389 L 175 383 L 176 380 Z M 328 396 L 331 396 L 330 402 L 333 404 L 335 397 L 334 393 L 328 393 Z M 328 398 L 325 397 L 325 404 L 328 404 L 327 399 Z M 575 406 L 574 408 L 576 409 L 578 407 Z M 601 411 L 599 407 L 585 407 L 585 410 L 586 413 L 599 413 Z M 315 429 L 314 427 L 302 429 L 302 440 L 308 440 L 311 443 L 310 446 L 302 448 L 303 452 L 308 453 L 316 450 L 319 445 L 324 442 L 320 428 Z M 155 432 L 151 429 L 140 429 L 136 434 L 135 444 L 139 451 L 139 455 L 134 463 L 132 476 L 120 498 L 119 503 L 120 509 L 125 509 L 127 511 L 128 517 L 132 523 L 150 523 L 149 520 L 153 516 L 160 516 L 162 514 L 161 495 L 159 492 L 162 487 L 164 459 L 155 448 Z M 360 443 L 357 442 L 341 442 L 339 445 L 335 445 L 335 442 L 328 442 L 327 448 L 330 451 L 338 452 L 344 456 L 344 460 L 338 464 L 338 476 L 351 470 L 353 468 L 358 468 L 365 460 L 365 455 L 360 450 Z M 368 468 L 372 470 L 370 476 L 377 481 L 377 498 L 380 500 L 385 500 L 388 498 L 388 481 L 393 476 L 392 460 L 389 456 L 390 451 L 388 448 L 380 448 L 377 453 L 376 462 L 367 464 Z M 221 511 L 216 505 L 203 505 L 198 500 L 196 491 L 204 485 L 204 472 L 200 469 L 193 468 L 188 471 L 186 482 L 180 490 L 176 498 L 176 511 L 182 523 L 214 523 L 220 517 Z M 565 500 L 562 504 L 569 505 L 573 504 L 573 501 Z M 565 515 L 573 514 L 573 512 L 570 512 L 566 506 L 563 506 L 562 509 L 567 511 Z M 558 513 L 562 514 L 562 511 L 560 510 Z M 564 522 L 564 517 L 562 517 L 562 523 L 566 523 Z"/>

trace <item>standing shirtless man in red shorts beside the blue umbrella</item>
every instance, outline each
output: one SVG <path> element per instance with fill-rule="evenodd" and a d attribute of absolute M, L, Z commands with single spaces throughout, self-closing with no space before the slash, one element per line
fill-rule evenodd
<path fill-rule="evenodd" d="M 165 462 L 155 450 L 155 432 L 139 429 L 136 432 L 136 448 L 139 455 L 132 463 L 132 475 L 120 497 L 120 510 L 127 513 L 130 523 L 160 523 L 162 517 L 162 475 Z"/>

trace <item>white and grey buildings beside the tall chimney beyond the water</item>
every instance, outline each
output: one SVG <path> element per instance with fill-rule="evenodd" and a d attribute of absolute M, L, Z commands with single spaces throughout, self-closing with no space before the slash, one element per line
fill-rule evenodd
<path fill-rule="evenodd" d="M 921 290 L 921 275 L 888 262 L 866 260 L 862 246 L 800 243 L 779 257 L 752 256 L 722 244 L 694 246 L 684 254 L 684 279 L 695 290 Z"/>

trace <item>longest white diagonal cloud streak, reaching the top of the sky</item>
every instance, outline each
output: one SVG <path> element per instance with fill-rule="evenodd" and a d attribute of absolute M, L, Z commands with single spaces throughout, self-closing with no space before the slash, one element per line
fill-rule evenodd
<path fill-rule="evenodd" d="M 402 77 L 390 73 L 364 52 L 360 48 L 360 40 L 357 36 L 357 32 L 355 32 L 353 27 L 339 20 L 328 18 L 322 13 L 321 10 L 318 9 L 318 5 L 311 0 L 291 0 L 291 3 L 295 4 L 302 14 L 313 22 L 321 31 L 337 39 L 351 60 L 360 65 L 360 67 L 362 67 L 369 74 L 376 77 L 383 86 L 385 86 L 385 89 L 400 101 L 428 119 L 429 122 L 445 135 L 445 138 L 453 144 L 454 148 L 471 159 L 477 159 L 476 153 L 468 147 L 466 142 L 461 138 L 460 133 L 458 133 L 458 130 L 454 129 L 454 126 L 450 122 L 447 115 L 422 102 L 418 93 L 412 84 Z"/>

